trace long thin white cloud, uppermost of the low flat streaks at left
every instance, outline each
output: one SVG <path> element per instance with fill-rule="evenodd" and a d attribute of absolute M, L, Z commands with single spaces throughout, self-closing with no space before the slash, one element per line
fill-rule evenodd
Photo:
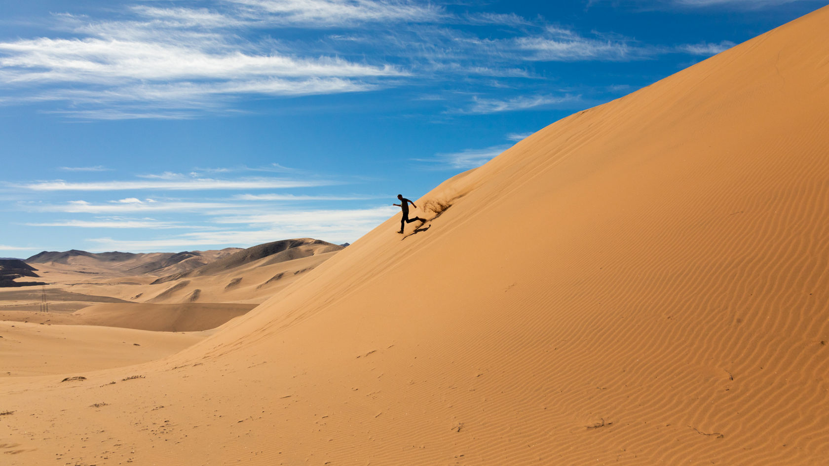
<path fill-rule="evenodd" d="M 241 178 L 221 180 L 213 178 L 161 179 L 148 181 L 111 182 L 32 182 L 18 187 L 32 191 L 125 191 L 131 189 L 169 189 L 173 191 L 202 191 L 225 189 L 274 189 L 289 187 L 319 187 L 338 184 L 332 181 L 285 180 L 279 178 Z"/>

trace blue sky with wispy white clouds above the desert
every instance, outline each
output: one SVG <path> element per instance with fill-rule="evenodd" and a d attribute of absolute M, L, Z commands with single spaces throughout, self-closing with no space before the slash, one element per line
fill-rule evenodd
<path fill-rule="evenodd" d="M 351 242 L 812 0 L 0 3 L 0 256 Z"/>

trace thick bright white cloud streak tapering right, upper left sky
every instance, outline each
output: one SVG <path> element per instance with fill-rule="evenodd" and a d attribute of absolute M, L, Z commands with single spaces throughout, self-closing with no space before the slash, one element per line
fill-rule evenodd
<path fill-rule="evenodd" d="M 117 84 L 140 80 L 232 80 L 235 87 L 255 85 L 245 78 L 311 78 L 397 75 L 390 66 L 366 66 L 337 57 L 300 59 L 253 54 L 244 48 L 210 51 L 164 42 L 51 39 L 0 42 L 2 76 L 12 82 L 60 81 Z M 254 81 L 258 82 L 258 81 Z M 267 87 L 267 81 L 264 81 Z"/>

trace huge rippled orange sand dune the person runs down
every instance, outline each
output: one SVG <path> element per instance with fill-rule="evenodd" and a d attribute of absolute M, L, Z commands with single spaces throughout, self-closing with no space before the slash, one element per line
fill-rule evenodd
<path fill-rule="evenodd" d="M 826 464 L 827 24 L 550 125 L 175 356 L 0 381 L 4 461 Z"/>

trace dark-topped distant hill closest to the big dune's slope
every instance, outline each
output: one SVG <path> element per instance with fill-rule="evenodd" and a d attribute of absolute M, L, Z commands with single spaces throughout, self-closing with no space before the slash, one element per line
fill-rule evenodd
<path fill-rule="evenodd" d="M 262 265 L 271 265 L 336 250 L 342 250 L 342 246 L 334 245 L 323 240 L 314 240 L 313 238 L 274 241 L 237 251 L 224 259 L 215 260 L 197 269 L 164 276 L 155 280 L 152 284 L 162 284 L 172 280 L 200 277 L 202 275 L 220 274 L 264 257 L 270 257 L 270 259 L 264 261 Z"/>

